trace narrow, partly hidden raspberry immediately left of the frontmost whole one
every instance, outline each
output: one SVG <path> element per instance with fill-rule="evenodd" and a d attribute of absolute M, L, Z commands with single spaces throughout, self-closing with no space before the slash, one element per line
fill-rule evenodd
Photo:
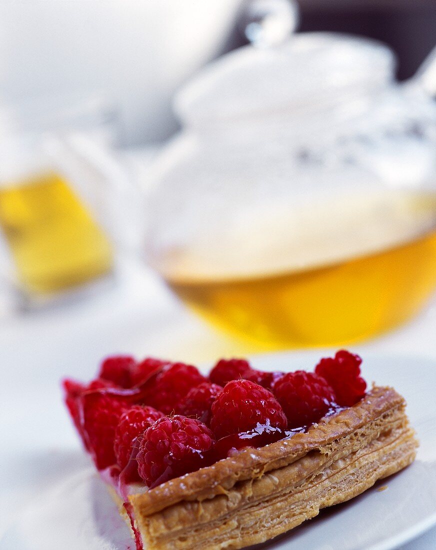
<path fill-rule="evenodd" d="M 162 412 L 141 405 L 134 405 L 123 412 L 115 430 L 114 441 L 114 452 L 120 469 L 128 465 L 136 439 L 162 416 Z"/>

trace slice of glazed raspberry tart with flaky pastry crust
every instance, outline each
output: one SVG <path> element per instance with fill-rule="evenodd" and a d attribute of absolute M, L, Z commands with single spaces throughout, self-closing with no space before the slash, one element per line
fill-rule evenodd
<path fill-rule="evenodd" d="M 65 403 L 138 550 L 243 548 L 291 530 L 415 459 L 393 388 L 340 350 L 314 372 L 222 359 L 109 357 Z"/>

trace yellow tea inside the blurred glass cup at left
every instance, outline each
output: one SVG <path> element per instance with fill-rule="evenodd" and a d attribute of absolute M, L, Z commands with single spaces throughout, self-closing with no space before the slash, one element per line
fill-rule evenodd
<path fill-rule="evenodd" d="M 56 293 L 111 270 L 112 246 L 106 234 L 57 173 L 3 185 L 0 228 L 27 293 Z"/>

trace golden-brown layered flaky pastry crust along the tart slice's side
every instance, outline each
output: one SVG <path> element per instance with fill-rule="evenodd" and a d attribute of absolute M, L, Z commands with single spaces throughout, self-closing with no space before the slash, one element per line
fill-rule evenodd
<path fill-rule="evenodd" d="M 415 459 L 417 445 L 404 398 L 373 387 L 306 433 L 131 494 L 135 527 L 148 550 L 244 548 L 398 472 Z"/>

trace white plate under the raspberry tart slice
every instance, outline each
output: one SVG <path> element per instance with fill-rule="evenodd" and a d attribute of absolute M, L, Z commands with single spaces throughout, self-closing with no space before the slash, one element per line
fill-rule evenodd
<path fill-rule="evenodd" d="M 253 364 L 266 370 L 310 370 L 320 356 L 274 354 L 255 357 Z M 349 503 L 322 511 L 318 518 L 267 544 L 268 548 L 388 550 L 436 525 L 436 364 L 417 357 L 367 355 L 363 375 L 369 384 L 374 380 L 394 386 L 405 395 L 421 442 L 417 460 Z M 0 548 L 134 549 L 124 521 L 91 467 L 75 468 L 70 474 L 63 469 L 58 478 L 19 515 Z"/>

